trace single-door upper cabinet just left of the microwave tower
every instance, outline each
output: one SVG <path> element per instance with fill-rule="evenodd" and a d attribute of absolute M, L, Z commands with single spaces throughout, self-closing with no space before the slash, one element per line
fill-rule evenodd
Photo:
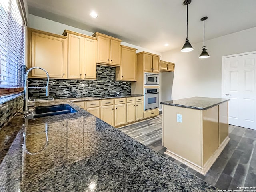
<path fill-rule="evenodd" d="M 116 68 L 116 80 L 136 81 L 137 55 L 136 50 L 121 45 L 121 66 Z"/>

